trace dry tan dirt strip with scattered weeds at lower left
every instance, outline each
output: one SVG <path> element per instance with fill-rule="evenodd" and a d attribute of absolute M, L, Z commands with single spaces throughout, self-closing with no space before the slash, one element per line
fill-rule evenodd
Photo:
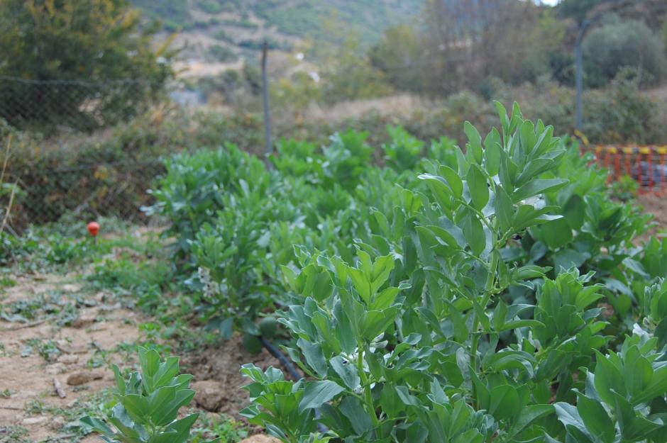
<path fill-rule="evenodd" d="M 0 305 L 0 442 L 75 441 L 77 415 L 114 383 L 109 364 L 133 361 L 140 318 L 72 276 L 21 277 Z"/>

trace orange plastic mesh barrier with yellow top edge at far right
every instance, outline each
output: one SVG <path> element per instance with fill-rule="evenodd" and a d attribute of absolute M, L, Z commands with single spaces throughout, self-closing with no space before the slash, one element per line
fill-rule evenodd
<path fill-rule="evenodd" d="M 631 176 L 639 182 L 639 193 L 667 191 L 667 146 L 586 145 L 581 154 L 592 152 L 595 162 L 609 170 L 610 183 Z"/>

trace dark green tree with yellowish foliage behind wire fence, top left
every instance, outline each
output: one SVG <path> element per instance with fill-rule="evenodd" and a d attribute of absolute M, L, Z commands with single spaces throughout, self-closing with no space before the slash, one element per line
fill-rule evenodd
<path fill-rule="evenodd" d="M 0 117 L 94 128 L 131 116 L 172 76 L 128 0 L 0 0 Z"/>

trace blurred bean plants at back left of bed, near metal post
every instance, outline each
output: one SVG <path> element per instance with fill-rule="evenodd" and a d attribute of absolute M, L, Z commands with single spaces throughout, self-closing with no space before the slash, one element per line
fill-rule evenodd
<path fill-rule="evenodd" d="M 390 135 L 395 150 L 404 149 L 402 143 L 422 145 L 404 130 Z M 162 187 L 153 191 L 158 202 L 149 211 L 172 220 L 166 235 L 178 237 L 176 257 L 189 273 L 187 286 L 201 294 L 196 309 L 210 328 L 224 337 L 235 329 L 260 335 L 255 318 L 287 298 L 282 267 L 297 262 L 294 245 L 353 257 L 349 242 L 367 235 L 354 207 L 377 198 L 355 196 L 355 188 L 368 183 L 363 189 L 393 195 L 393 183 L 404 180 L 372 167 L 367 137 L 336 133 L 321 150 L 282 140 L 271 158 L 275 171 L 233 145 L 167 163 Z M 417 162 L 417 154 L 410 155 Z M 367 203 L 363 208 L 370 212 Z M 389 223 L 379 213 L 373 217 Z"/>

